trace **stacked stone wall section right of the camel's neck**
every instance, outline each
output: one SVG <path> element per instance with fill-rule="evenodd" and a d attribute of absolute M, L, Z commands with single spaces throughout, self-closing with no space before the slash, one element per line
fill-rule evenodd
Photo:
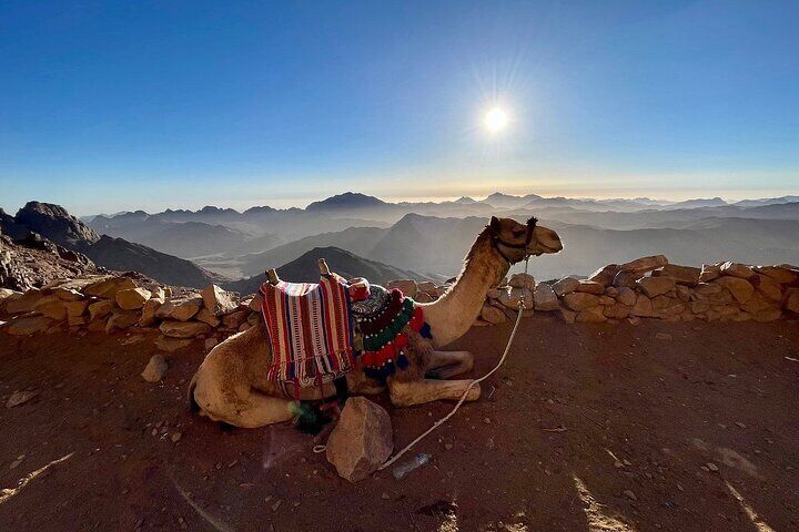
<path fill-rule="evenodd" d="M 668 321 L 772 321 L 799 314 L 799 268 L 717 263 L 701 268 L 669 264 L 664 255 L 609 264 L 587 279 L 535 284 L 516 274 L 488 291 L 477 326 L 499 324 L 532 290 L 536 310 L 567 323 L 658 318 Z M 533 288 L 534 287 L 534 288 Z M 532 308 L 525 305 L 525 308 Z M 525 310 L 526 313 L 529 310 Z"/>

